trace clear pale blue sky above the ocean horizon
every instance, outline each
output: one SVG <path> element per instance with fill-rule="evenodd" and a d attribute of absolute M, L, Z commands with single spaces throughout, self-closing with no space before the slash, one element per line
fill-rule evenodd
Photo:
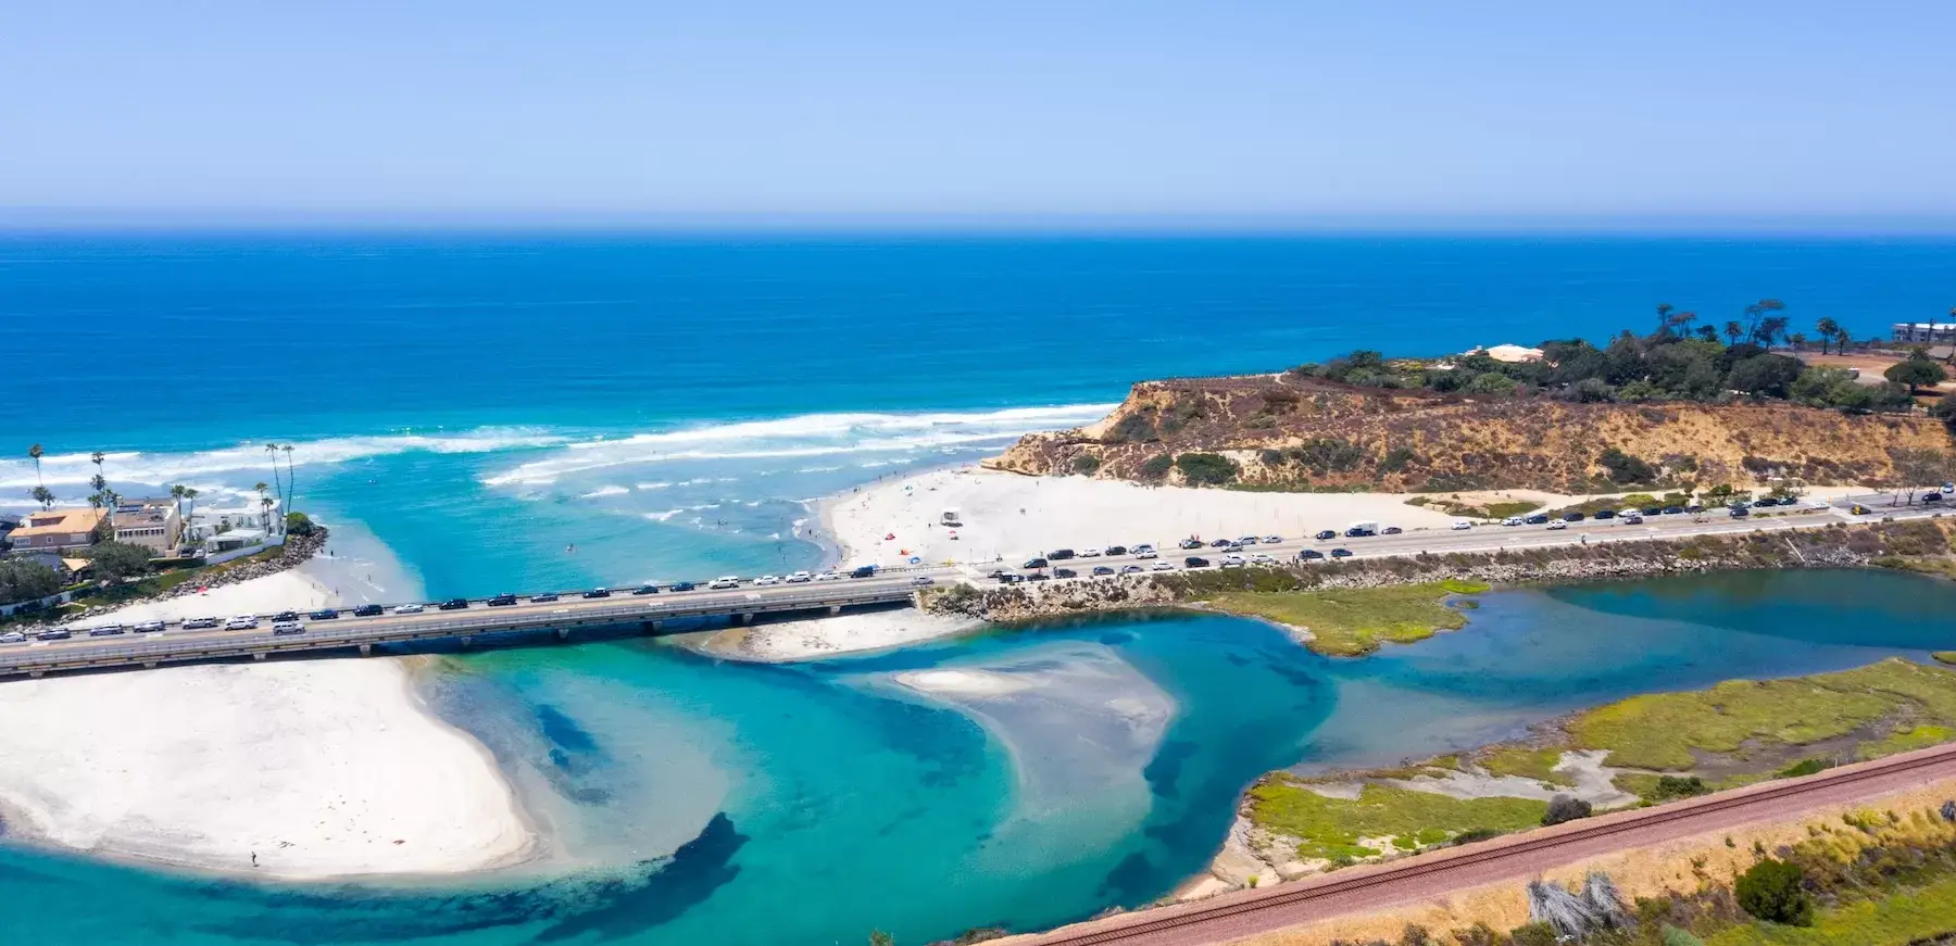
<path fill-rule="evenodd" d="M 1948 223 L 1950 37 L 1934 0 L 16 0 L 0 223 Z"/>

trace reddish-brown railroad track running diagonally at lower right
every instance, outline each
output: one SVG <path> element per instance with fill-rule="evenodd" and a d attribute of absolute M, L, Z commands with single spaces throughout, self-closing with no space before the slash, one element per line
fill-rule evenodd
<path fill-rule="evenodd" d="M 1733 792 L 1719 792 L 1715 796 L 1674 801 L 1661 807 L 1598 815 L 1596 819 L 1584 819 L 1571 825 L 1561 825 L 1553 829 L 1543 829 L 1539 833 L 1522 835 L 1520 838 L 1508 842 L 1489 840 L 1467 848 L 1455 848 L 1438 854 L 1428 854 L 1422 858 L 1412 858 L 1400 864 L 1389 864 L 1363 876 L 1350 876 L 1350 878 L 1332 876 L 1318 883 L 1301 885 L 1293 889 L 1277 889 L 1271 893 L 1258 893 L 1246 899 L 1236 899 L 1232 903 L 1203 905 L 1181 911 L 1178 911 L 1176 907 L 1166 907 L 1162 913 L 1168 915 L 1156 919 L 1140 919 L 1138 923 L 1131 923 L 1125 926 L 1084 930 L 1074 934 L 1060 930 L 1048 936 L 1041 936 L 1037 940 L 1029 940 L 1029 946 L 1099 946 L 1111 942 L 1125 944 L 1125 942 L 1148 940 L 1150 936 L 1162 932 L 1183 930 L 1189 926 L 1201 926 L 1207 923 L 1246 917 L 1264 911 L 1277 911 L 1283 907 L 1307 905 L 1311 901 L 1322 901 L 1389 883 L 1404 883 L 1414 878 L 1432 878 L 1432 876 L 1444 876 L 1447 872 L 1463 872 L 1475 866 L 1494 864 L 1508 858 L 1524 858 L 1528 854 L 1555 850 L 1569 844 L 1582 844 L 1590 840 L 1610 838 L 1616 835 L 1627 835 L 1633 831 L 1649 831 L 1651 827 L 1657 825 L 1668 825 L 1676 821 L 1715 815 L 1719 811 L 1745 809 L 1751 805 L 1764 805 L 1784 797 L 1798 797 L 1813 792 L 1835 790 L 1876 778 L 1893 778 L 1899 774 L 1931 770 L 1936 766 L 1956 768 L 1956 745 L 1944 745 L 1944 747 L 1925 749 L 1919 752 L 1880 758 L 1874 762 L 1860 762 L 1854 766 L 1833 768 L 1805 778 L 1770 782 L 1764 786 L 1741 788 Z M 1138 913 L 1136 917 L 1146 917 L 1146 913 Z M 1269 928 L 1275 930 L 1293 923 L 1297 923 L 1297 919 L 1287 919 L 1285 923 L 1271 924 Z M 1240 936 L 1244 936 L 1242 930 L 1230 930 L 1226 934 L 1226 938 L 1232 940 Z"/>

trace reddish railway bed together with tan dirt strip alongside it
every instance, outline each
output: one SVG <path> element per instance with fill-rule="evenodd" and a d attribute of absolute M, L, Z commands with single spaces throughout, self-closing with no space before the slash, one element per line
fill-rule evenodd
<path fill-rule="evenodd" d="M 1224 893 L 1066 926 L 1027 946 L 1209 946 L 1330 917 L 1420 903 L 1489 883 L 1520 885 L 1545 870 L 1737 825 L 1800 817 L 1874 796 L 1956 778 L 1956 745 L 1831 768 L 1817 776 L 1571 821 L 1277 887 Z"/>

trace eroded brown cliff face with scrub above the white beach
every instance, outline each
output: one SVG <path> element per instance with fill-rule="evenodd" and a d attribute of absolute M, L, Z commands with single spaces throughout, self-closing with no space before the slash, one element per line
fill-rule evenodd
<path fill-rule="evenodd" d="M 1843 414 L 1790 403 L 1580 405 L 1436 395 L 1289 375 L 1144 381 L 1099 424 L 1031 434 L 988 467 L 1031 475 L 1252 489 L 1622 491 L 1604 455 L 1655 483 L 1756 487 L 1897 479 L 1897 450 L 1950 448 L 1927 416 Z M 1217 453 L 1234 463 L 1174 463 Z"/>

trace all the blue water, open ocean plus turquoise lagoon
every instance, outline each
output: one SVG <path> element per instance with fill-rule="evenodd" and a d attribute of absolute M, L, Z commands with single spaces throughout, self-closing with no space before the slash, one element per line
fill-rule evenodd
<path fill-rule="evenodd" d="M 1870 334 L 1940 317 L 1952 283 L 1950 240 L 4 238 L 0 510 L 27 504 L 31 442 L 70 502 L 92 450 L 125 494 L 229 502 L 272 479 L 276 440 L 299 506 L 403 573 L 391 596 L 782 571 L 823 555 L 808 500 L 1093 420 L 1136 379 L 1602 336 L 1659 301 L 1723 321 L 1776 295 L 1798 324 Z M 0 928 L 139 946 L 1029 928 L 1166 893 L 1269 768 L 1919 657 L 1956 647 L 1952 594 L 1858 573 L 1516 590 L 1363 661 L 1185 616 L 808 666 L 645 641 L 458 657 L 428 698 L 589 866 L 284 887 L 0 848 Z M 980 706 L 896 682 L 947 666 L 1064 686 Z"/>

